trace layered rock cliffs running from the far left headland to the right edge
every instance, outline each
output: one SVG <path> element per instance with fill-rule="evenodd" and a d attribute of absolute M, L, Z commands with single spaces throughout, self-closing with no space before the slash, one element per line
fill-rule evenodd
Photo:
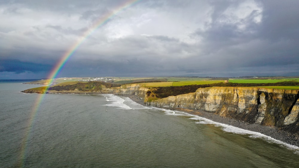
<path fill-rule="evenodd" d="M 280 90 L 258 87 L 205 87 L 193 93 L 153 98 L 155 88 L 142 87 L 141 84 L 125 84 L 120 87 L 94 87 L 92 83 L 86 90 L 76 87 L 69 90 L 48 90 L 47 93 L 75 94 L 117 94 L 136 95 L 148 106 L 167 108 L 187 108 L 204 110 L 223 117 L 234 118 L 265 126 L 282 127 L 290 132 L 299 132 L 299 90 Z M 41 87 L 42 88 L 42 87 Z M 24 93 L 44 93 L 41 89 L 29 89 Z M 153 97 L 152 97 L 153 96 Z"/>

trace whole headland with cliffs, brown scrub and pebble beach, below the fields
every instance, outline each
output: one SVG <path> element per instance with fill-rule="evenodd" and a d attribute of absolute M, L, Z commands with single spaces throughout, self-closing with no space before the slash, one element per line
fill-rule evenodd
<path fill-rule="evenodd" d="M 106 93 L 128 96 L 141 105 L 187 112 L 218 123 L 260 132 L 299 146 L 299 89 L 296 89 L 298 81 L 275 84 L 282 88 L 260 83 L 253 84 L 254 86 L 251 86 L 252 84 L 239 84 L 239 86 L 235 83 L 209 82 L 206 84 L 187 82 L 191 85 L 181 86 L 173 86 L 174 82 L 172 86 L 167 86 L 169 82 L 156 81 L 131 84 L 99 81 L 68 82 L 22 92 Z"/>

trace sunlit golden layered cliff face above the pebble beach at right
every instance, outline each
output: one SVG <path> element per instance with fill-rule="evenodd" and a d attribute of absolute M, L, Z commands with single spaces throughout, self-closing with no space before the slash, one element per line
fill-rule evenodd
<path fill-rule="evenodd" d="M 298 90 L 206 87 L 195 93 L 147 102 L 156 107 L 204 110 L 249 123 L 283 127 L 298 123 Z"/>

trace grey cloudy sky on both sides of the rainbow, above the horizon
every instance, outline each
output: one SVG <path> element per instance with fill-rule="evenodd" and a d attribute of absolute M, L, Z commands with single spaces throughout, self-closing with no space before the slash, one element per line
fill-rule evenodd
<path fill-rule="evenodd" d="M 0 0 L 0 79 L 47 78 L 127 0 Z M 140 0 L 78 47 L 57 77 L 299 76 L 299 1 Z"/>

